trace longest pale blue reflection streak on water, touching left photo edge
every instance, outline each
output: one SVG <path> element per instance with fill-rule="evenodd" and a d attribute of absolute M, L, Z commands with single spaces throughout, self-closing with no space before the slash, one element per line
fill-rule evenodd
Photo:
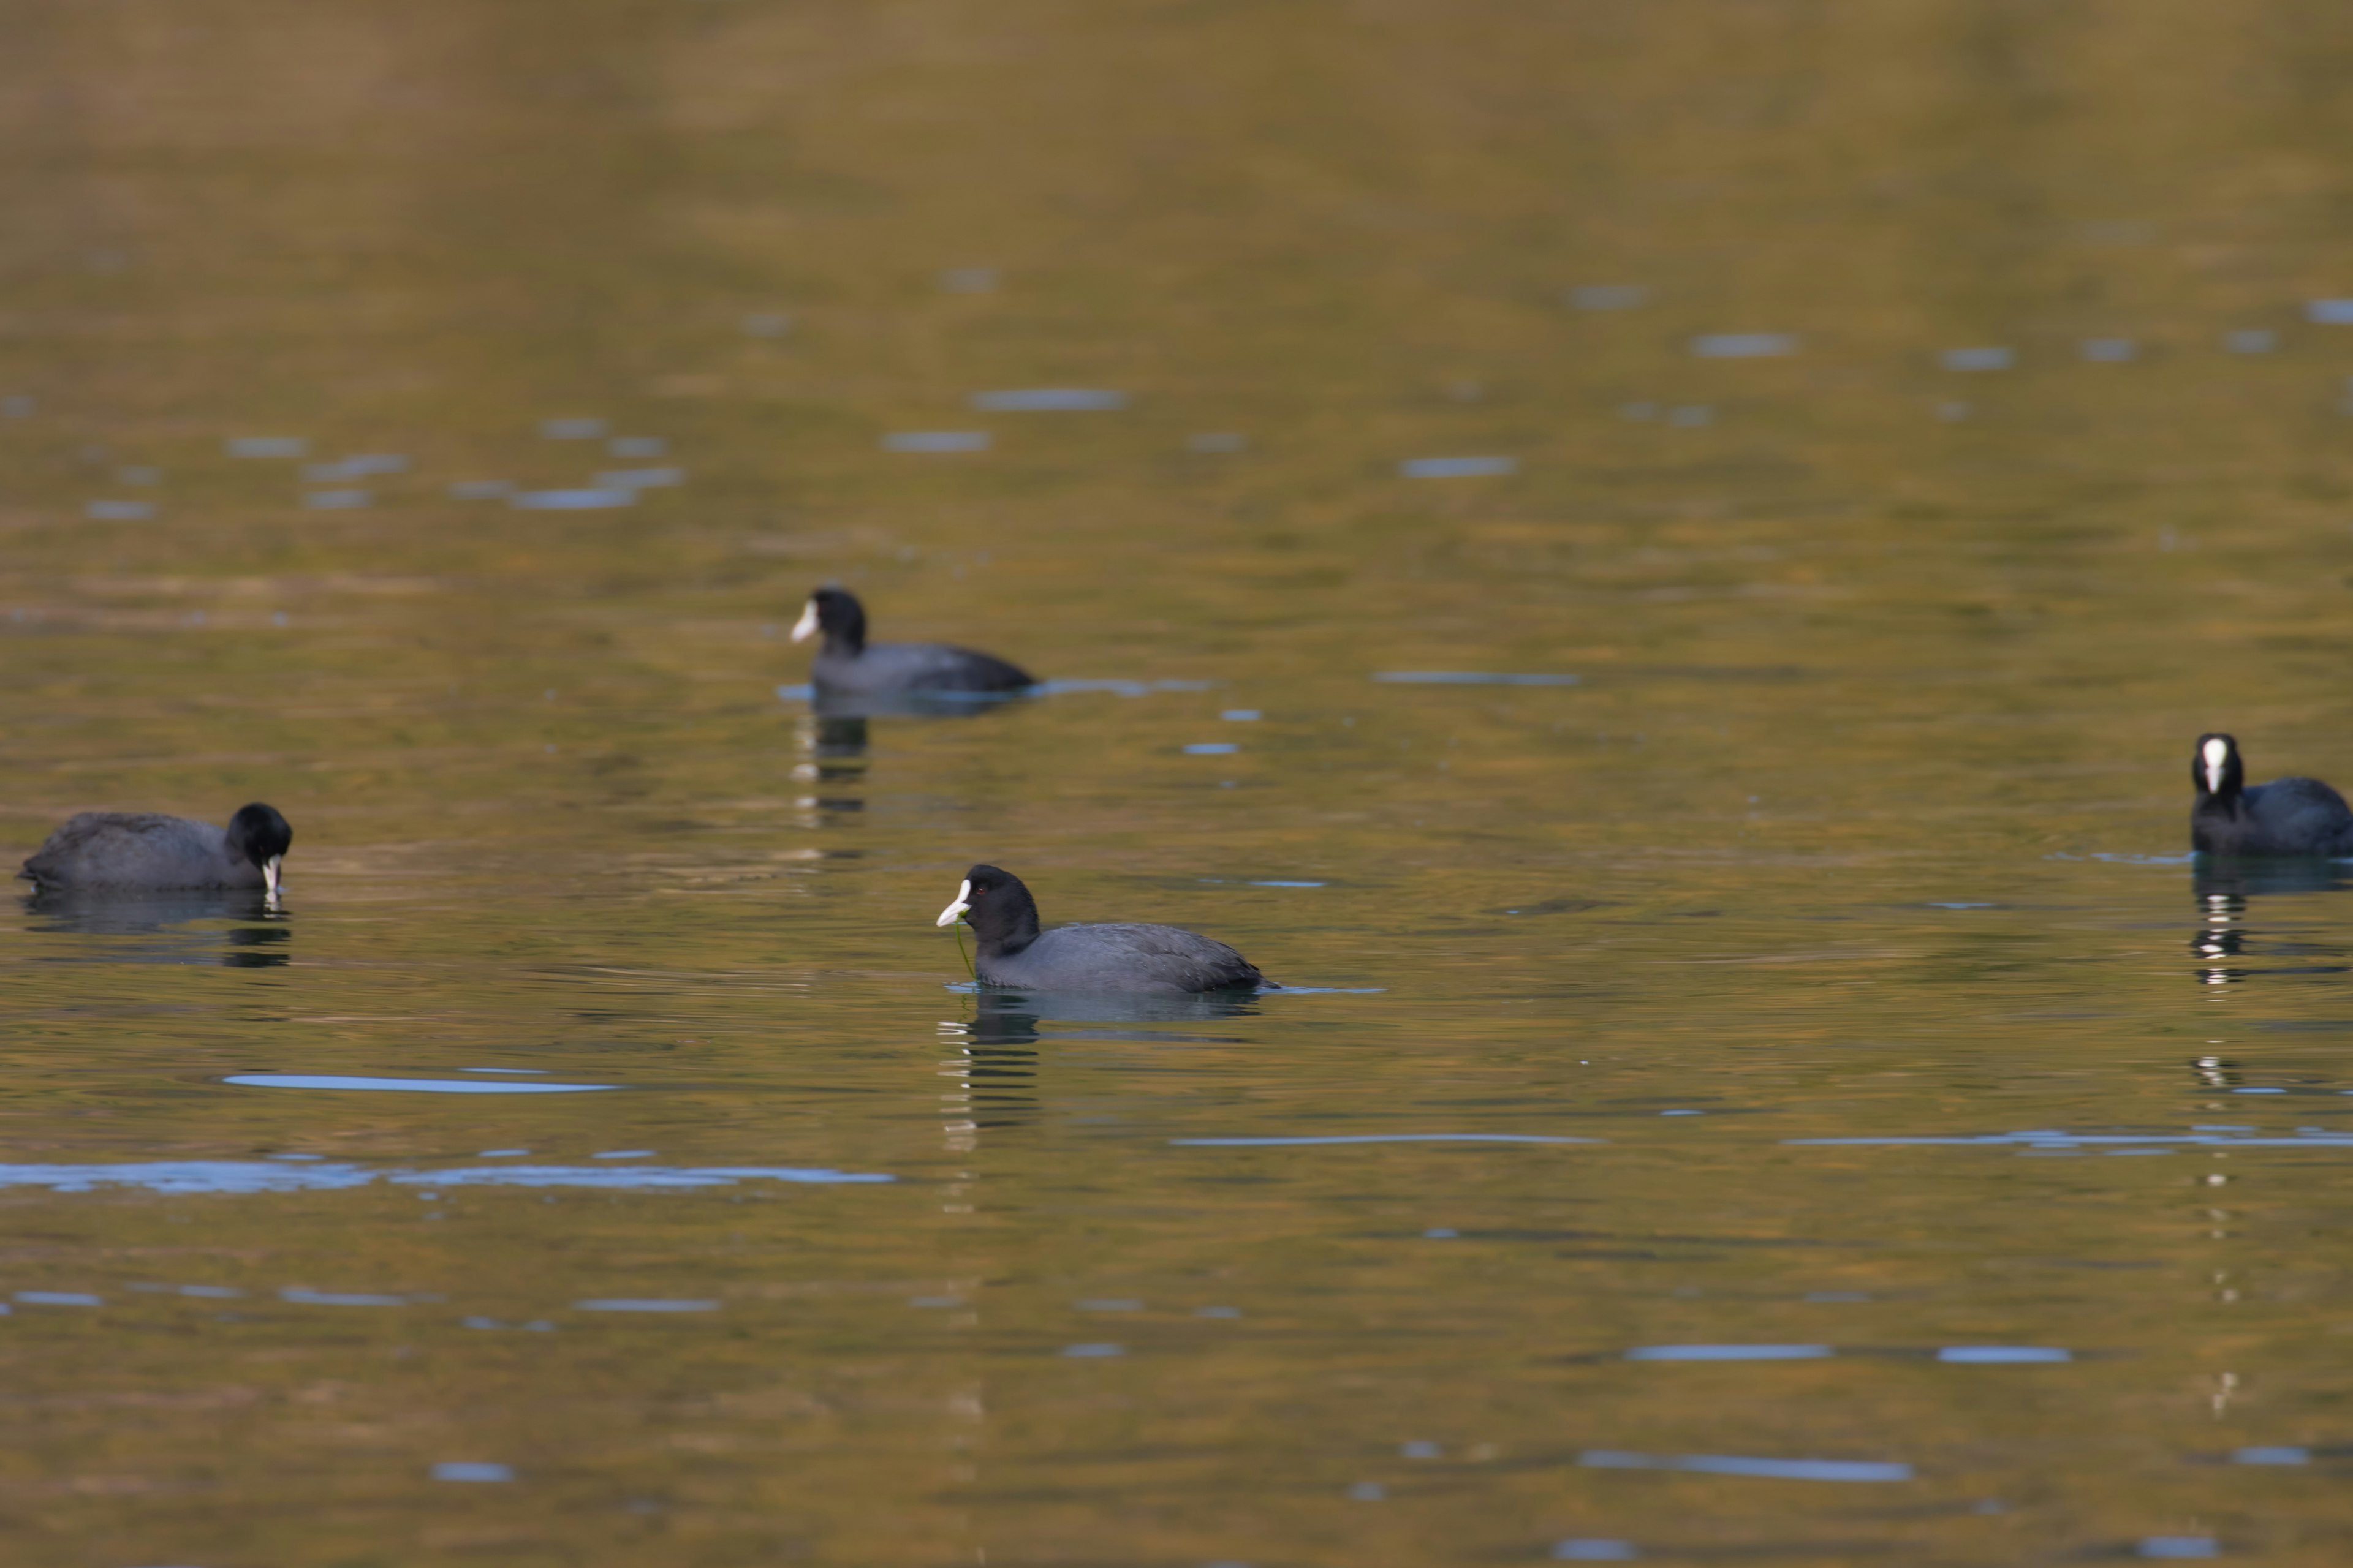
<path fill-rule="evenodd" d="M 0 1166 L 0 1187 L 47 1187 L 49 1192 L 96 1192 L 141 1187 L 146 1192 L 341 1192 L 369 1182 L 395 1187 L 602 1187 L 678 1190 L 732 1187 L 736 1182 L 889 1182 L 882 1171 L 828 1171 L 816 1166 L 454 1166 L 409 1171 L 398 1166 L 308 1164 L 282 1166 L 261 1159 L 158 1159 L 111 1166 Z"/>

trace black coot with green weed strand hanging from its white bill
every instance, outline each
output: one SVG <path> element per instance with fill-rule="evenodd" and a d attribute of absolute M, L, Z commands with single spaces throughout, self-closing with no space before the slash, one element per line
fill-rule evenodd
<path fill-rule="evenodd" d="M 1280 990 L 1226 943 L 1176 926 L 1056 926 L 1038 931 L 1038 900 L 1012 872 L 974 865 L 939 912 L 979 938 L 974 976 L 986 985 L 1052 992 Z"/>

